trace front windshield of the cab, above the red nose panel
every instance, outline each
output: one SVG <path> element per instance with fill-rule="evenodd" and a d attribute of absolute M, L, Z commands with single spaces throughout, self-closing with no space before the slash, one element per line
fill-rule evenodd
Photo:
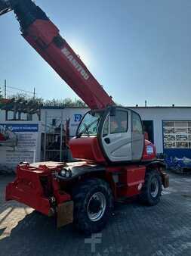
<path fill-rule="evenodd" d="M 97 127 L 102 112 L 88 112 L 79 126 L 77 136 L 97 135 Z"/>

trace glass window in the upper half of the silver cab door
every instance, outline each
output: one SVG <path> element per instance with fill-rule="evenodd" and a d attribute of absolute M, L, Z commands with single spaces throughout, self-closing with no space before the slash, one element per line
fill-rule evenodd
<path fill-rule="evenodd" d="M 115 116 L 110 116 L 110 134 L 127 133 L 128 131 L 128 112 L 116 111 Z"/>

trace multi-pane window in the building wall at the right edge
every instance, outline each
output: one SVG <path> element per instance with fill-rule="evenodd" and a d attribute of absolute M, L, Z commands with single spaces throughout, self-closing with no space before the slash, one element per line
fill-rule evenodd
<path fill-rule="evenodd" d="M 191 148 L 191 121 L 164 121 L 164 148 Z"/>

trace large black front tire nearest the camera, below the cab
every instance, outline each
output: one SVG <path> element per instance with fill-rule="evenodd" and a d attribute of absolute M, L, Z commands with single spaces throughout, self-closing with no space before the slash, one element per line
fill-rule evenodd
<path fill-rule="evenodd" d="M 105 203 L 105 207 L 103 208 L 104 211 L 101 210 L 101 206 L 99 205 L 100 201 L 97 201 L 97 195 L 101 195 L 103 198 Z M 74 201 L 75 227 L 87 235 L 100 232 L 100 230 L 106 226 L 113 207 L 112 190 L 108 183 L 97 178 L 85 180 L 73 189 L 72 198 Z M 92 207 L 94 209 L 97 208 L 95 209 L 95 212 L 99 212 L 100 207 L 102 213 L 100 214 L 100 219 L 97 218 L 97 220 L 91 220 L 92 216 L 90 218 L 90 208 Z"/>

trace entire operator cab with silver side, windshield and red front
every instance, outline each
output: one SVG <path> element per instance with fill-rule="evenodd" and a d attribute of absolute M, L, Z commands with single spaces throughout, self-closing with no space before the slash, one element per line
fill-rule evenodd
<path fill-rule="evenodd" d="M 112 163 L 140 161 L 144 149 L 140 115 L 116 106 L 89 111 L 69 145 L 73 158 Z"/>

